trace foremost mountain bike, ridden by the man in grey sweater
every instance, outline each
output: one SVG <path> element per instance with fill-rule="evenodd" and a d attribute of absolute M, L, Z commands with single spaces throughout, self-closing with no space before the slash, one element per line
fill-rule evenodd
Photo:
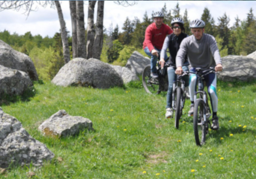
<path fill-rule="evenodd" d="M 196 144 L 201 146 L 205 143 L 206 135 L 208 133 L 208 126 L 211 126 L 210 116 L 211 110 L 208 104 L 207 93 L 204 91 L 204 76 L 209 73 L 215 73 L 214 69 L 202 71 L 200 68 L 196 69 L 196 73 L 189 72 L 197 75 L 197 86 L 198 91 L 195 94 L 195 107 L 194 107 L 194 119 L 193 128 L 195 134 Z M 197 98 L 199 96 L 199 98 Z"/>

